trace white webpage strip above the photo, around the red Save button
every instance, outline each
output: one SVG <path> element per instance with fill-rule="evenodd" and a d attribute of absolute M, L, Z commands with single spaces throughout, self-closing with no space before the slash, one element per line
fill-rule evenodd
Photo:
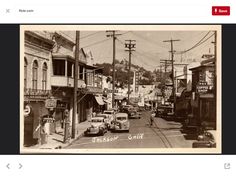
<path fill-rule="evenodd" d="M 230 6 L 231 14 L 212 16 L 212 6 Z M 4 0 L 0 8 L 1 23 L 236 22 L 235 0 Z"/>

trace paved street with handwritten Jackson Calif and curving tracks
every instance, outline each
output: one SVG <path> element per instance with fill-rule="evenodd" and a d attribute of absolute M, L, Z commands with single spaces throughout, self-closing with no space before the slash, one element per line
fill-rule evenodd
<path fill-rule="evenodd" d="M 181 124 L 155 118 L 149 126 L 150 112 L 142 112 L 141 119 L 130 119 L 130 131 L 108 131 L 104 136 L 81 137 L 69 149 L 89 148 L 191 148 L 192 141 L 180 132 Z"/>

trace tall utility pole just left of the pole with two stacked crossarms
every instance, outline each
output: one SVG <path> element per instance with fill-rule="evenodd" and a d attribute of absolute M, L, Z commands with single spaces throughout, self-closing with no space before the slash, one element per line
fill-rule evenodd
<path fill-rule="evenodd" d="M 115 30 L 108 30 L 106 31 L 107 37 L 112 37 L 113 39 L 113 63 L 112 63 L 112 68 L 113 68 L 113 76 L 112 76 L 112 108 L 115 107 L 115 59 L 116 59 L 116 36 L 121 35 L 121 34 L 116 34 Z"/>

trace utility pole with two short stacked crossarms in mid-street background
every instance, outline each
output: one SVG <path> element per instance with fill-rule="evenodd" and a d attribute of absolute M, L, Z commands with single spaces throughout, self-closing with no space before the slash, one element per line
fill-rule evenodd
<path fill-rule="evenodd" d="M 135 51 L 135 42 L 136 40 L 125 40 L 125 48 L 127 52 L 129 52 L 129 71 L 128 71 L 128 104 L 130 104 L 129 96 L 130 96 L 130 69 L 131 69 L 131 54 L 132 51 Z"/>

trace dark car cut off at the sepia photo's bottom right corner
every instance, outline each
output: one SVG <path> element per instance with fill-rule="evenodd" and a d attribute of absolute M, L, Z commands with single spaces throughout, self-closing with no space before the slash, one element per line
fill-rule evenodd
<path fill-rule="evenodd" d="M 193 142 L 193 148 L 215 148 L 216 147 L 216 131 L 207 130 L 198 136 L 198 140 Z"/>

